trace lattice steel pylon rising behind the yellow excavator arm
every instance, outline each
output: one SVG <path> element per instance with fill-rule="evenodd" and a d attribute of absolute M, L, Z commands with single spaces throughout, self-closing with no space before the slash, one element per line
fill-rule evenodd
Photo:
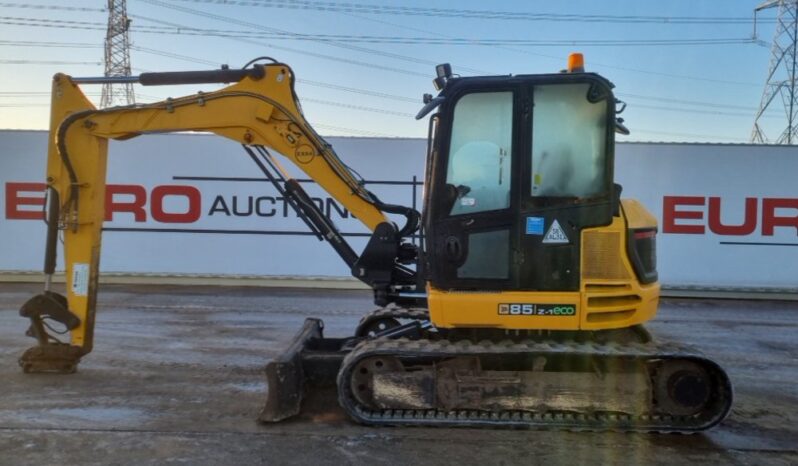
<path fill-rule="evenodd" d="M 130 76 L 130 19 L 127 0 L 108 0 L 108 32 L 105 35 L 105 76 Z M 103 84 L 100 108 L 136 103 L 133 84 Z"/>

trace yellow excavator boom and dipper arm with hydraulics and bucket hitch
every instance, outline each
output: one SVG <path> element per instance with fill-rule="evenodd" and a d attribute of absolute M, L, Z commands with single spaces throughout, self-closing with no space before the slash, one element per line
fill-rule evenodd
<path fill-rule="evenodd" d="M 153 104 L 97 109 L 79 84 L 109 79 L 134 80 L 144 85 L 234 84 L 215 92 Z M 352 176 L 332 147 L 305 120 L 293 82 L 292 70 L 281 63 L 241 70 L 145 73 L 126 78 L 55 75 L 47 161 L 45 290 L 20 310 L 22 316 L 31 319 L 28 334 L 39 342 L 20 359 L 26 372 L 73 372 L 80 357 L 92 349 L 109 139 L 175 131 L 215 133 L 244 144 L 253 158 L 255 152 L 250 147 L 261 155 L 268 155 L 265 148 L 282 154 L 371 231 L 393 225 L 384 211 L 406 214 L 409 224 L 413 223 L 411 209 L 383 204 Z M 299 190 L 292 197 L 305 220 L 319 225 L 316 232 L 328 239 L 354 269 L 358 256 L 331 222 L 314 219 L 313 207 L 307 205 L 312 202 L 307 202 L 309 198 L 299 184 L 284 172 L 280 178 L 286 190 Z M 414 230 L 415 226 L 406 226 L 396 237 L 408 229 Z M 66 296 L 50 290 L 59 233 L 64 245 Z M 63 324 L 70 342 L 48 333 L 46 319 Z"/>

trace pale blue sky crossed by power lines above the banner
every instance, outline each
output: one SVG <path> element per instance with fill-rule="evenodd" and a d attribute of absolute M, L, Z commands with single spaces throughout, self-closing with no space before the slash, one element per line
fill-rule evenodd
<path fill-rule="evenodd" d="M 776 10 L 761 0 L 128 0 L 133 74 L 289 64 L 323 135 L 426 137 L 437 63 L 462 76 L 557 72 L 570 52 L 617 86 L 620 141 L 747 142 Z M 46 129 L 50 79 L 101 76 L 100 0 L 0 1 L 0 129 Z M 149 103 L 215 85 L 141 87 Z M 99 102 L 100 87 L 84 91 Z M 765 116 L 775 138 L 786 122 Z M 770 129 L 775 128 L 775 129 Z"/>

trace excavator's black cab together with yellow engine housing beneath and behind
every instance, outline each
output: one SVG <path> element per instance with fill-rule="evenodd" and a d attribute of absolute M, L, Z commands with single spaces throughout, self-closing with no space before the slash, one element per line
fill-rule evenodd
<path fill-rule="evenodd" d="M 440 93 L 419 114 L 436 110 L 424 267 L 437 326 L 576 331 L 654 316 L 656 220 L 613 181 L 615 132 L 628 134 L 614 86 L 571 62 L 466 78 L 438 67 Z"/>

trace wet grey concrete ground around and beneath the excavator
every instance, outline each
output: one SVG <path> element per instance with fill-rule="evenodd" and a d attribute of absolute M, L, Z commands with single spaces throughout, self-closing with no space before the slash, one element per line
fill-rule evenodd
<path fill-rule="evenodd" d="M 696 435 L 367 428 L 340 415 L 264 426 L 262 368 L 305 316 L 350 334 L 366 292 L 105 286 L 74 375 L 23 375 L 34 341 L 0 285 L 0 464 L 796 464 L 798 303 L 665 300 L 649 329 L 716 359 L 730 417 Z"/>

